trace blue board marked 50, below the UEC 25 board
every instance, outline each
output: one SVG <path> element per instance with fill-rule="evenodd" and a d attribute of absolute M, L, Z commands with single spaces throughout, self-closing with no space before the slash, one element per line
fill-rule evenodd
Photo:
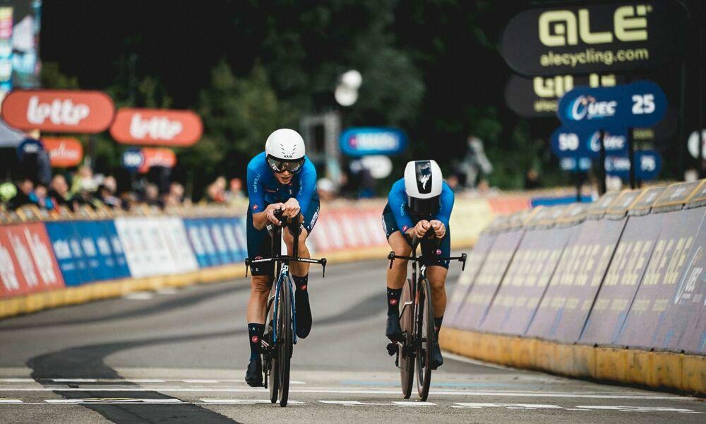
<path fill-rule="evenodd" d="M 597 129 L 569 129 L 560 126 L 551 134 L 551 151 L 558 158 L 599 158 L 601 131 Z M 628 152 L 628 130 L 604 130 L 603 144 L 606 155 L 625 155 Z"/>

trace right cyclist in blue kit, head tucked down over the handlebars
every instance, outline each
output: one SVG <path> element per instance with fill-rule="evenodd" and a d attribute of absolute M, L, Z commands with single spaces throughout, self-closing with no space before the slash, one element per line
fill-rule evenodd
<path fill-rule="evenodd" d="M 412 236 L 421 240 L 421 254 L 425 258 L 426 276 L 431 285 L 431 305 L 434 312 L 436 340 L 431 353 L 431 367 L 436 370 L 443 364 L 441 348 L 438 346 L 438 331 L 441 329 L 446 308 L 446 273 L 450 257 L 451 242 L 448 220 L 453 209 L 454 196 L 443 181 L 441 169 L 434 160 L 416 160 L 407 163 L 405 177 L 397 180 L 390 189 L 388 204 L 383 211 L 383 229 L 388 243 L 396 255 L 409 256 L 412 252 Z M 423 238 L 428 232 L 433 237 Z M 398 259 L 387 271 L 388 322 L 385 336 L 391 341 L 400 341 L 400 295 L 407 278 L 407 261 Z"/>

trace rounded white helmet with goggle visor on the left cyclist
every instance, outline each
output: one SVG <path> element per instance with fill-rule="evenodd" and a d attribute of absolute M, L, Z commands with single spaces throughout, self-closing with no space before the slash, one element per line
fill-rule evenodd
<path fill-rule="evenodd" d="M 273 172 L 299 172 L 304 166 L 304 154 L 304 139 L 293 129 L 277 129 L 265 142 L 265 156 Z"/>

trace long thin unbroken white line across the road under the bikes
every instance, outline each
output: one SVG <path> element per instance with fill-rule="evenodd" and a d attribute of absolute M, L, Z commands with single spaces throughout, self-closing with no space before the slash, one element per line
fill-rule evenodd
<path fill-rule="evenodd" d="M 71 380 L 75 381 L 75 380 Z M 235 388 L 235 387 L 0 387 L 0 391 L 222 391 L 233 393 L 260 393 L 266 391 L 259 388 Z M 329 389 L 325 387 L 314 389 L 290 389 L 289 393 L 319 393 L 319 394 L 400 394 L 399 390 L 378 390 L 378 389 Z M 439 390 L 430 391 L 435 396 L 502 396 L 502 397 L 541 397 L 541 398 L 567 398 L 567 399 L 645 399 L 645 400 L 698 400 L 698 398 L 688 396 L 650 396 L 636 394 L 580 394 L 580 393 L 557 393 L 542 391 L 451 391 Z"/>

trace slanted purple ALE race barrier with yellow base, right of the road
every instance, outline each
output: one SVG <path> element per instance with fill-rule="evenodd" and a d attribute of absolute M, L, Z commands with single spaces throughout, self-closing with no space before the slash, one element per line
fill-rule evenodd
<path fill-rule="evenodd" d="M 706 394 L 706 180 L 537 207 L 482 232 L 443 348 Z"/>

